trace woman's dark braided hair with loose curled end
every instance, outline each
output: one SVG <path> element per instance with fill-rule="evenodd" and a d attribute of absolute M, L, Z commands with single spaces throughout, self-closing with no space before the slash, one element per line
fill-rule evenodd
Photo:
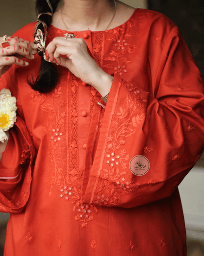
<path fill-rule="evenodd" d="M 36 9 L 37 15 L 42 12 L 54 13 L 56 11 L 57 5 L 60 0 L 49 0 L 49 1 L 51 3 L 52 10 L 47 0 L 36 0 L 35 9 Z M 52 16 L 48 14 L 42 14 L 39 17 L 39 20 L 46 23 L 47 27 L 49 28 L 52 21 Z M 37 32 L 38 29 L 40 29 L 44 33 L 44 26 L 42 23 L 39 23 L 39 25 L 35 28 L 35 33 Z M 35 33 L 34 33 L 34 37 L 35 37 Z M 56 85 L 57 70 L 54 68 L 53 64 L 44 60 L 43 51 L 39 52 L 38 54 L 41 57 L 41 67 L 40 67 L 39 74 L 36 79 L 34 79 L 32 76 L 31 80 L 27 79 L 27 82 L 33 90 L 38 91 L 39 93 L 48 93 L 51 90 L 53 90 Z"/>

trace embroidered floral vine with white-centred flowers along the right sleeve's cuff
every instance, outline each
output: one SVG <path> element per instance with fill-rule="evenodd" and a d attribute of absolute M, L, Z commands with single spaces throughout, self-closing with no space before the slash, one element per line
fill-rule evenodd
<path fill-rule="evenodd" d="M 133 86 L 127 83 L 127 87 Z M 108 137 L 105 152 L 107 166 L 102 169 L 102 182 L 96 192 L 95 205 L 117 206 L 123 194 L 134 192 L 140 187 L 140 184 L 134 184 L 134 179 L 127 175 L 129 155 L 123 145 L 126 143 L 126 137 L 131 136 L 138 125 L 144 122 L 145 114 L 139 111 L 145 107 L 145 102 L 139 91 L 135 94 L 135 90 L 131 90 L 127 97 L 127 108 L 119 107 L 116 110 L 118 121 L 113 121 L 115 132 Z"/>

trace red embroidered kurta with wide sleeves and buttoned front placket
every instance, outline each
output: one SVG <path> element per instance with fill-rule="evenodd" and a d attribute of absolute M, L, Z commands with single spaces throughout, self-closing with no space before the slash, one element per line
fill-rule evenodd
<path fill-rule="evenodd" d="M 33 41 L 34 26 L 15 36 Z M 51 25 L 47 43 L 66 32 Z M 33 91 L 39 56 L 1 76 L 18 106 L 0 161 L 4 255 L 186 256 L 178 185 L 204 149 L 204 85 L 178 27 L 136 9 L 74 33 L 114 76 L 107 104 L 56 65 L 56 88 Z"/>

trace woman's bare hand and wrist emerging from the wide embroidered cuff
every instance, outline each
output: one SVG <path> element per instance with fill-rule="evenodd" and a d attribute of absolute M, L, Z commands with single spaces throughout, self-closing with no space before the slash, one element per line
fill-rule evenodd
<path fill-rule="evenodd" d="M 102 96 L 110 91 L 113 77 L 91 58 L 83 38 L 55 37 L 46 48 L 45 60 L 67 67 L 84 83 L 95 87 Z"/>

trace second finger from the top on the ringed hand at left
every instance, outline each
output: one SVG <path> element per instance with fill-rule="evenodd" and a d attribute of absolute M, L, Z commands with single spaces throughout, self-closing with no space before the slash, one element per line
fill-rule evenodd
<path fill-rule="evenodd" d="M 30 50 L 30 51 L 29 51 Z M 16 55 L 18 54 L 18 58 L 28 58 L 28 59 L 34 59 L 35 51 L 32 49 L 26 49 L 18 44 L 10 45 L 6 48 L 2 48 L 0 52 L 0 56 L 9 56 L 9 55 Z"/>

